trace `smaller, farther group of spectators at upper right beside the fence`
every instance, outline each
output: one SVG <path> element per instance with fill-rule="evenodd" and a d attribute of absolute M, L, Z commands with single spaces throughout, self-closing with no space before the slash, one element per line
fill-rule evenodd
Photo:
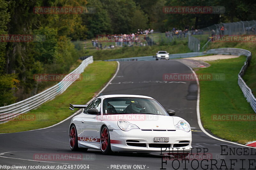
<path fill-rule="evenodd" d="M 166 31 L 165 32 L 165 37 L 177 37 L 177 38 L 186 38 L 188 36 L 188 32 L 191 33 L 191 35 L 200 35 L 200 34 L 203 34 L 204 31 L 203 30 L 200 30 L 200 29 L 195 29 L 194 26 L 191 26 L 191 28 L 189 28 L 188 25 L 186 25 L 184 27 L 184 30 L 180 30 L 180 29 L 177 29 L 177 28 L 172 28 L 171 31 Z"/>

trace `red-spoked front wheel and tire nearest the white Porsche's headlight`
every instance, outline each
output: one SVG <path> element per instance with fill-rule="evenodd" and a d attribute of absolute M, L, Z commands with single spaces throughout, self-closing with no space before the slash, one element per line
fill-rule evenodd
<path fill-rule="evenodd" d="M 104 155 L 112 153 L 110 146 L 110 135 L 107 126 L 103 126 L 100 132 L 100 150 Z"/>

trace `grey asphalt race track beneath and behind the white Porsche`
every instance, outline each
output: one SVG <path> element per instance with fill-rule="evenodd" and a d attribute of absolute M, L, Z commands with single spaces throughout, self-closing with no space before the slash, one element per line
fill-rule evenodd
<path fill-rule="evenodd" d="M 202 152 L 199 152 L 199 155 L 197 156 L 193 155 L 190 157 L 189 163 L 188 161 L 186 163 L 186 168 L 184 161 L 181 162 L 181 159 L 163 159 L 164 162 L 166 161 L 166 164 L 163 163 L 163 168 L 166 168 L 167 170 L 174 168 L 177 169 L 179 166 L 179 169 L 220 169 L 221 165 L 222 169 L 249 169 L 250 167 L 255 168 L 256 155 L 252 154 L 255 154 L 256 149 L 249 149 L 248 151 L 245 149 L 247 152 L 244 152 L 244 149 L 241 149 L 241 146 L 213 139 L 200 130 L 197 124 L 196 116 L 196 81 L 163 81 L 163 74 L 168 73 L 192 72 L 186 65 L 172 60 L 120 62 L 120 69 L 116 77 L 100 95 L 136 94 L 151 96 L 155 98 L 160 104 L 162 104 L 165 109 L 175 110 L 175 116 L 182 117 L 189 122 L 193 134 L 192 146 L 195 148 L 192 152 L 193 154 L 196 154 L 196 148 L 198 148 L 198 151 L 200 150 L 199 148 L 201 148 Z M 68 104 L 69 103 L 67 101 L 67 109 Z M 142 165 L 142 167 L 137 166 L 135 169 L 148 170 L 156 170 L 162 167 L 162 156 L 159 155 L 160 153 L 115 153 L 114 155 L 102 155 L 100 151 L 91 149 L 89 149 L 87 152 L 72 152 L 68 144 L 69 123 L 70 120 L 52 128 L 43 130 L 0 134 L 1 165 L 50 165 L 56 167 L 58 165 L 68 166 L 79 164 L 89 165 L 89 169 L 91 170 L 114 169 L 113 165 L 131 165 L 131 169 L 134 169 L 133 166 L 135 167 L 136 165 Z M 228 148 L 234 148 L 233 150 L 235 150 L 235 154 L 231 153 L 231 155 L 229 155 L 228 152 L 228 155 L 220 155 L 220 145 L 225 145 Z M 223 146 L 223 148 L 226 149 L 226 153 L 229 150 L 225 146 Z M 216 166 L 213 165 L 211 167 L 211 160 L 208 162 L 206 160 L 202 161 L 205 159 L 203 156 L 203 148 L 208 149 L 208 152 L 205 153 L 207 159 L 216 159 L 212 160 L 212 164 L 217 162 Z M 82 155 L 84 160 L 35 160 L 35 155 L 39 153 L 75 153 Z M 239 155 L 240 153 L 242 155 Z M 193 159 L 197 160 L 192 161 Z M 221 159 L 224 160 L 227 168 Z M 237 162 L 236 160 L 231 161 L 230 159 L 236 159 Z M 250 161 L 249 159 L 253 160 Z M 231 163 L 234 164 L 232 167 Z M 198 165 L 199 167 L 197 167 Z M 208 168 L 207 165 L 209 165 Z M 125 169 L 124 167 L 118 168 Z"/>

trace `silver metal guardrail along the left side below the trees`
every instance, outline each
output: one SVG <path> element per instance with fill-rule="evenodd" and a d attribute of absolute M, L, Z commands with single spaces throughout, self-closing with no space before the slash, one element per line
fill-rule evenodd
<path fill-rule="evenodd" d="M 22 113 L 26 113 L 29 110 L 35 109 L 41 104 L 52 100 L 55 98 L 55 96 L 63 93 L 74 81 L 76 81 L 76 79 L 78 78 L 77 74 L 81 74 L 82 72 L 84 72 L 84 68 L 87 67 L 88 64 L 93 62 L 93 56 L 85 58 L 74 71 L 66 75 L 64 79 L 62 79 L 62 81 L 60 81 L 58 84 L 18 103 L 13 103 L 7 106 L 0 107 L 0 124 L 8 122 L 8 120 L 10 120 L 11 118 L 16 117 Z M 65 81 L 65 78 L 69 78 L 68 80 L 71 80 Z"/>

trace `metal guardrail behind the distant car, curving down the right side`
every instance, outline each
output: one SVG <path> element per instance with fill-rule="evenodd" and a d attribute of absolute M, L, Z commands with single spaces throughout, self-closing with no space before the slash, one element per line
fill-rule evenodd
<path fill-rule="evenodd" d="M 244 72 L 246 68 L 249 66 L 252 53 L 248 50 L 240 49 L 240 48 L 216 48 L 210 49 L 205 52 L 193 52 L 193 53 L 179 53 L 179 54 L 170 54 L 170 59 L 176 58 L 189 58 L 196 56 L 203 56 L 206 54 L 228 54 L 228 55 L 244 55 L 247 56 L 246 61 L 244 62 L 244 66 L 238 74 L 238 85 L 244 93 L 246 100 L 251 104 L 252 109 L 256 113 L 256 99 L 252 94 L 252 90 L 246 85 L 243 80 Z M 156 60 L 154 56 L 143 56 L 143 57 L 131 57 L 131 58 L 121 58 L 121 59 L 110 59 L 105 61 L 145 61 L 145 60 Z"/>

